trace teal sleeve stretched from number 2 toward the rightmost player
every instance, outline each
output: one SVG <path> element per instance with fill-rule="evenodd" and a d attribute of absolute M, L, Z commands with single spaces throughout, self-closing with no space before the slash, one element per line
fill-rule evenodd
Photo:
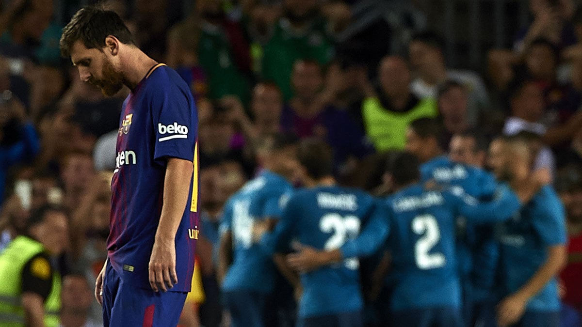
<path fill-rule="evenodd" d="M 521 208 L 519 198 L 506 185 L 500 185 L 495 192 L 494 199 L 489 202 L 480 202 L 474 197 L 470 197 L 460 187 L 452 188 L 450 195 L 456 202 L 459 214 L 475 223 L 505 221 Z"/>

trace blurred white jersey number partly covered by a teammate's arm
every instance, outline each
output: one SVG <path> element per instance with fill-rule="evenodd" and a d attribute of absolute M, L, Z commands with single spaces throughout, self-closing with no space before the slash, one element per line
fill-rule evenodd
<path fill-rule="evenodd" d="M 355 239 L 360 233 L 360 219 L 356 216 L 342 217 L 339 214 L 327 214 L 320 219 L 320 229 L 324 233 L 332 233 L 325 242 L 325 250 L 335 250 L 346 243 L 346 239 Z M 355 270 L 360 266 L 357 258 L 346 258 L 343 264 L 347 269 Z"/>

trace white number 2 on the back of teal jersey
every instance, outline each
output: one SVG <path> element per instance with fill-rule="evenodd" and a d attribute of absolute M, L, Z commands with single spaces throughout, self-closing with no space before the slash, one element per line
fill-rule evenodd
<path fill-rule="evenodd" d="M 414 244 L 414 259 L 420 269 L 434 269 L 445 265 L 445 255 L 442 253 L 428 252 L 441 239 L 441 231 L 438 228 L 437 219 L 433 215 L 420 215 L 412 220 L 412 230 L 422 235 Z"/>

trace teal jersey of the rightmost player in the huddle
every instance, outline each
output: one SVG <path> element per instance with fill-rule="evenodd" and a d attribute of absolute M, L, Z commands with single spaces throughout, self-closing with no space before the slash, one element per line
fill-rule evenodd
<path fill-rule="evenodd" d="M 548 247 L 566 243 L 565 212 L 551 186 L 544 186 L 519 215 L 504 222 L 501 241 L 501 281 L 512 294 L 537 272 L 548 258 Z M 528 302 L 526 310 L 559 310 L 558 281 L 552 278 Z"/>

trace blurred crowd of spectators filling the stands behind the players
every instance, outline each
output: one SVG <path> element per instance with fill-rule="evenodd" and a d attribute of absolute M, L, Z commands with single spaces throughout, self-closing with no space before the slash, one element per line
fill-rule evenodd
<path fill-rule="evenodd" d="M 441 36 L 412 18 L 392 27 L 396 41 L 379 29 L 346 36 L 354 2 L 197 0 L 185 14 L 179 1 L 104 3 L 141 49 L 179 72 L 197 100 L 201 233 L 193 285 L 200 292 L 184 325 L 228 321 L 216 278 L 218 226 L 226 200 L 260 170 L 265 136 L 321 138 L 333 150 L 340 183 L 381 194 L 386 152 L 402 150 L 407 126 L 424 117 L 442 123 L 446 151 L 455 134 L 482 134 L 451 152 L 474 153 L 481 164 L 494 136 L 527 138 L 534 169 L 551 176 L 577 239 L 563 272 L 563 301 L 582 310 L 582 7 L 530 0 L 529 26 L 512 31 L 513 48 L 489 49 L 487 74 L 480 75 L 446 65 Z M 424 15 L 394 2 L 402 17 Z M 63 276 L 61 324 L 98 325 L 91 292 L 107 255 L 109 183 L 129 90 L 106 98 L 61 58 L 62 27 L 81 3 L 59 2 L 63 20 L 56 20 L 53 0 L 3 3 L 0 248 L 26 233 L 31 212 L 62 207 L 68 226 L 52 258 Z"/>

